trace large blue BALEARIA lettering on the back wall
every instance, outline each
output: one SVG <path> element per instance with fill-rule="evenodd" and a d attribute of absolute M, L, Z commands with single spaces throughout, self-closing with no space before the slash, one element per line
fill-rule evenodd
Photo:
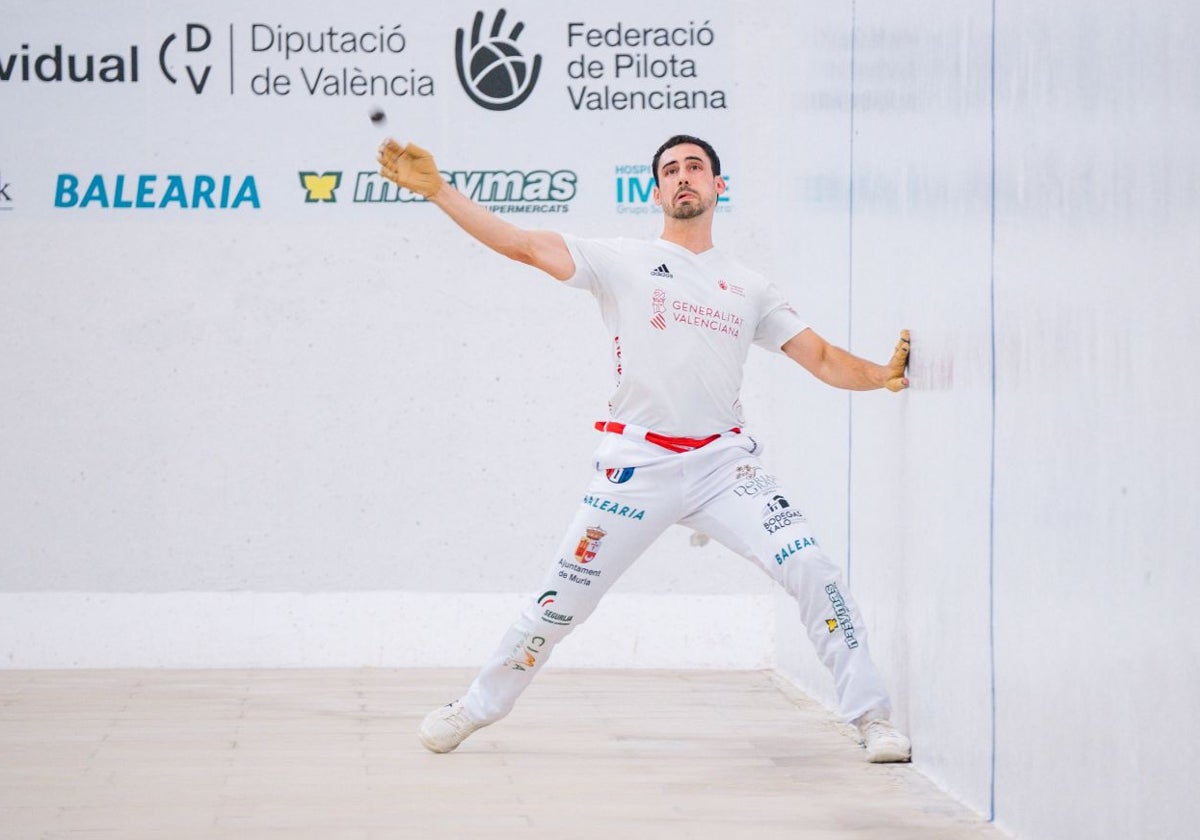
<path fill-rule="evenodd" d="M 61 173 L 54 206 L 85 210 L 258 210 L 253 175 L 92 175 Z"/>

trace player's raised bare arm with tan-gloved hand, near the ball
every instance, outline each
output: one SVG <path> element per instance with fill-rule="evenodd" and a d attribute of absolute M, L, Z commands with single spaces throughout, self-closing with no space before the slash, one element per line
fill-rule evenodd
<path fill-rule="evenodd" d="M 451 187 L 438 172 L 433 156 L 419 145 L 384 140 L 379 146 L 379 174 L 425 196 L 480 242 L 509 259 L 541 269 L 554 280 L 575 274 L 575 259 L 562 234 L 526 230 L 497 216 Z"/>

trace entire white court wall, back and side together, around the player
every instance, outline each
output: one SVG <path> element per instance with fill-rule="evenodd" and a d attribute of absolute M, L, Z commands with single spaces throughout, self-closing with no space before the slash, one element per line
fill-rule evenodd
<path fill-rule="evenodd" d="M 724 246 L 863 355 L 912 329 L 904 395 L 755 354 L 744 402 L 846 558 L 918 767 L 1016 836 L 1190 836 L 1200 13 L 643 6 L 509 4 L 544 77 L 492 113 L 454 68 L 474 5 L 0 0 L 0 66 L 142 50 L 137 84 L 0 82 L 0 666 L 470 665 L 538 580 L 610 385 L 593 302 L 432 208 L 304 202 L 299 172 L 372 168 L 368 98 L 246 89 L 265 64 L 383 62 L 434 79 L 384 104 L 443 168 L 577 174 L 569 212 L 524 223 L 653 235 L 616 168 L 712 138 Z M 408 46 L 253 54 L 262 20 Z M 710 25 L 672 84 L 730 107 L 575 110 L 568 62 L 614 50 L 569 46 L 571 20 Z M 202 95 L 157 67 L 187 22 L 217 34 Z M 263 206 L 56 209 L 62 172 L 254 173 Z M 556 662 L 776 666 L 828 701 L 799 636 L 748 564 L 676 529 Z"/>

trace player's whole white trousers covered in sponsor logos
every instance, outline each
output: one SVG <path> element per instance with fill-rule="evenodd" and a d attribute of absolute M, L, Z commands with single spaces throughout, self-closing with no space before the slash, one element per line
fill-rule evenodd
<path fill-rule="evenodd" d="M 680 523 L 748 558 L 796 599 L 847 721 L 888 716 L 890 701 L 841 571 L 756 450 L 748 434 L 679 454 L 606 436 L 550 570 L 472 683 L 467 713 L 494 722 L 511 712 L 554 646 L 667 527 Z"/>

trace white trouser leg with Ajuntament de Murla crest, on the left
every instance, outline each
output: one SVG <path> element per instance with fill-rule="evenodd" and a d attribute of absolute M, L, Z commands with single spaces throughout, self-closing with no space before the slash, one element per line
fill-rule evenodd
<path fill-rule="evenodd" d="M 554 647 L 674 521 L 678 504 L 656 491 L 664 469 L 638 467 L 620 484 L 598 470 L 536 593 L 463 697 L 472 718 L 491 724 L 511 712 Z"/>

